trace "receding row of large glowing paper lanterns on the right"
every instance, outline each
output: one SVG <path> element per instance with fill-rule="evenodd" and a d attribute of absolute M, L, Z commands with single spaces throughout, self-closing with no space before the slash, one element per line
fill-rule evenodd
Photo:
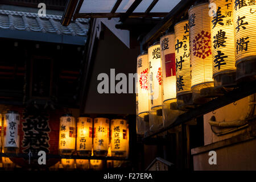
<path fill-rule="evenodd" d="M 137 59 L 137 122 L 151 130 L 255 79 L 255 1 L 210 0 L 192 6 L 188 17 Z"/>

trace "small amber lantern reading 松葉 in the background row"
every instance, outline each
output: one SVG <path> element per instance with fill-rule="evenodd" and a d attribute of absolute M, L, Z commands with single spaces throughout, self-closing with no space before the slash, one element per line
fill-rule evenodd
<path fill-rule="evenodd" d="M 95 156 L 106 156 L 109 148 L 109 119 L 94 119 L 93 154 Z"/>

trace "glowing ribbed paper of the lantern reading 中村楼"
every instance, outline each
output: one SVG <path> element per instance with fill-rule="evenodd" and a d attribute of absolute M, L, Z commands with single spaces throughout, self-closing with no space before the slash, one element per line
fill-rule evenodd
<path fill-rule="evenodd" d="M 177 49 L 175 50 L 177 95 L 181 95 L 191 92 L 188 20 L 184 20 L 175 24 L 174 30 L 175 44 L 177 44 Z"/>

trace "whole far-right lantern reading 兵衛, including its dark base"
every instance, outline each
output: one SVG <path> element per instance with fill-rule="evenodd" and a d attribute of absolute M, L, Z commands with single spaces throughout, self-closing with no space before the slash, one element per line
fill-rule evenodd
<path fill-rule="evenodd" d="M 256 78 L 256 1 L 232 1 L 237 80 Z"/>

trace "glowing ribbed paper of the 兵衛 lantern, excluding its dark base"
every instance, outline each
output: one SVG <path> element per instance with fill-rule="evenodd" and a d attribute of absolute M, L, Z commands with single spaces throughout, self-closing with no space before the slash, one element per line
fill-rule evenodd
<path fill-rule="evenodd" d="M 256 56 L 256 1 L 232 2 L 236 64 Z"/>

